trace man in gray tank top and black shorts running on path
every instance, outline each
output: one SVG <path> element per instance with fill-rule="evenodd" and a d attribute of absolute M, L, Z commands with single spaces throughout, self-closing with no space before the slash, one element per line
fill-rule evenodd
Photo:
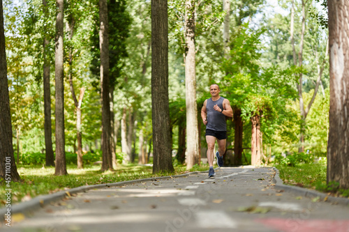
<path fill-rule="evenodd" d="M 207 162 L 209 163 L 209 177 L 216 176 L 214 173 L 214 144 L 218 144 L 216 152 L 217 164 L 223 167 L 223 154 L 227 140 L 227 124 L 225 116 L 232 117 L 232 107 L 228 99 L 219 95 L 221 89 L 218 84 L 209 87 L 211 98 L 205 100 L 201 109 L 202 122 L 206 125 Z"/>

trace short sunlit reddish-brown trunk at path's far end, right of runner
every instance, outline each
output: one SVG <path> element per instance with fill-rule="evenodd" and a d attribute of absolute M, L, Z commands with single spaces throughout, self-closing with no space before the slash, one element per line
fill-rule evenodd
<path fill-rule="evenodd" d="M 251 165 L 260 166 L 260 116 L 251 117 Z"/>

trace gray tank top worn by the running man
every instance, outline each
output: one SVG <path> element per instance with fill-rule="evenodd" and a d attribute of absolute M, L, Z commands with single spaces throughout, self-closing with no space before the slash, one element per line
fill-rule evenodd
<path fill-rule="evenodd" d="M 223 109 L 223 100 L 225 98 L 221 97 L 216 101 L 211 98 L 207 99 L 206 111 L 207 111 L 207 125 L 206 129 L 216 130 L 216 131 L 226 131 L 227 123 L 225 123 L 225 115 L 219 111 L 214 110 L 214 105 L 218 105 L 219 108 Z"/>

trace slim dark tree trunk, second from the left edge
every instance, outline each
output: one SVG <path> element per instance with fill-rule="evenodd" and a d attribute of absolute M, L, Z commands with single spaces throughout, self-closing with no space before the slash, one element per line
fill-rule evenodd
<path fill-rule="evenodd" d="M 47 2 L 43 0 L 43 12 L 45 17 L 48 17 Z M 50 88 L 50 59 L 47 46 L 49 40 L 46 36 L 47 27 L 44 26 L 44 40 L 43 40 L 43 92 L 44 92 L 44 132 L 45 132 L 45 153 L 46 166 L 54 166 L 54 153 L 52 148 L 52 123 L 51 123 L 51 88 Z"/>

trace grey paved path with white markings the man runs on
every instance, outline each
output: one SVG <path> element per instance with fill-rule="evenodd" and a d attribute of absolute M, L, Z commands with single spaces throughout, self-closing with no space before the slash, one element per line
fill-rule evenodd
<path fill-rule="evenodd" d="M 276 190 L 274 170 L 232 168 L 89 190 L 1 231 L 349 232 L 349 206 Z"/>

